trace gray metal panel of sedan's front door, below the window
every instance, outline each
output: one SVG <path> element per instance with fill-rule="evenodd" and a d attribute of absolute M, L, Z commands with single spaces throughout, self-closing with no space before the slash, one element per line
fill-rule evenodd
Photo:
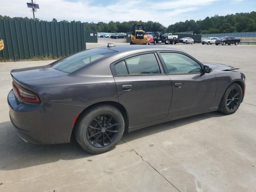
<path fill-rule="evenodd" d="M 168 118 L 211 108 L 217 88 L 214 73 L 168 76 L 172 80 L 172 103 Z"/>

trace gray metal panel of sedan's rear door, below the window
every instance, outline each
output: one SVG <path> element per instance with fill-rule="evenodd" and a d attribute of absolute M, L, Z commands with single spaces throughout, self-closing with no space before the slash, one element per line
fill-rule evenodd
<path fill-rule="evenodd" d="M 172 84 L 165 74 L 114 78 L 119 102 L 128 112 L 129 126 L 167 117 L 172 97 Z M 131 90 L 123 90 L 124 85 L 131 85 Z"/>

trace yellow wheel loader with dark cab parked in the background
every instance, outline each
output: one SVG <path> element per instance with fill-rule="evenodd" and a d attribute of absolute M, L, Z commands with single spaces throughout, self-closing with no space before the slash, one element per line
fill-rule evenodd
<path fill-rule="evenodd" d="M 148 44 L 148 37 L 144 31 L 144 25 L 138 24 L 138 21 L 132 26 L 132 34 L 130 35 L 130 45 L 133 44 Z"/>

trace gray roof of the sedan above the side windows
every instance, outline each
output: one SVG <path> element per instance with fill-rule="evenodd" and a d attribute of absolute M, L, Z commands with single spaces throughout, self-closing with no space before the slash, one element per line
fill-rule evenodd
<path fill-rule="evenodd" d="M 161 50 L 177 51 L 176 48 L 166 47 L 166 46 L 157 46 L 157 45 L 150 45 L 150 46 L 149 45 L 118 45 L 118 46 L 109 47 L 109 48 L 107 47 L 100 47 L 100 48 L 106 48 L 106 49 L 114 50 L 116 52 L 130 52 L 135 50 L 137 50 L 138 52 L 161 51 Z"/>

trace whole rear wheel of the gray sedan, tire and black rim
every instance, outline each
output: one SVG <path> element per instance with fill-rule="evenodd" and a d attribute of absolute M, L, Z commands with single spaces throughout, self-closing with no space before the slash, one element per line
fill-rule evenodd
<path fill-rule="evenodd" d="M 101 105 L 84 114 L 75 127 L 75 137 L 89 153 L 98 154 L 111 150 L 124 133 L 124 117 L 111 105 Z"/>

